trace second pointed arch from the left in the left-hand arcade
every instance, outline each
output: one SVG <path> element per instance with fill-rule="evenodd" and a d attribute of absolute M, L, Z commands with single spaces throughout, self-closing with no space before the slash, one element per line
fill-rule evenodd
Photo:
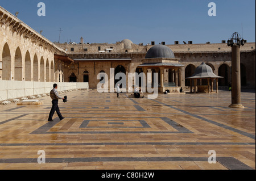
<path fill-rule="evenodd" d="M 14 57 L 14 80 L 15 81 L 22 81 L 22 53 L 20 48 L 18 47 L 15 51 Z"/>

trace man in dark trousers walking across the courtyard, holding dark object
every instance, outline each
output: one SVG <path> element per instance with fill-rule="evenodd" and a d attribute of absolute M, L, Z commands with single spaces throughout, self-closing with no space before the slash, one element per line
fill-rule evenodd
<path fill-rule="evenodd" d="M 57 112 L 57 115 L 59 116 L 59 119 L 63 120 L 65 117 L 63 117 L 60 113 L 58 102 L 59 102 L 59 99 L 64 99 L 64 98 L 61 98 L 59 96 L 59 94 L 57 92 L 57 84 L 56 83 L 53 85 L 53 89 L 50 92 L 50 96 L 52 98 L 52 109 L 51 109 L 51 112 L 49 113 L 48 121 L 53 121 L 52 116 L 53 116 L 55 111 Z"/>

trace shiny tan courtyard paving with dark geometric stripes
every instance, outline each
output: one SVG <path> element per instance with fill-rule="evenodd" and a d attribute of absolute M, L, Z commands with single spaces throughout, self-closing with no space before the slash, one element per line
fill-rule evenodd
<path fill-rule="evenodd" d="M 228 91 L 155 100 L 64 95 L 62 121 L 56 113 L 47 121 L 49 96 L 43 106 L 0 106 L 0 169 L 255 169 L 255 93 L 242 92 L 242 110 L 228 107 Z"/>

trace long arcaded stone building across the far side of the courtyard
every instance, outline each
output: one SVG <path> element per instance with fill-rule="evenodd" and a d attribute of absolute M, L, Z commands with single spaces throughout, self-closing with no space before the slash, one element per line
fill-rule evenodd
<path fill-rule="evenodd" d="M 220 40 L 221 41 L 221 40 Z M 165 45 L 164 42 L 160 43 Z M 95 89 L 99 80 L 97 74 L 105 72 L 109 75 L 109 69 L 114 68 L 124 73 L 134 73 L 142 71 L 139 65 L 142 64 L 147 51 L 154 47 L 155 42 L 151 44 L 133 44 L 131 40 L 125 39 L 115 44 L 96 44 L 81 42 L 57 44 L 60 48 L 67 51 L 70 58 L 75 60 L 64 68 L 64 81 L 89 82 L 89 87 Z M 190 82 L 185 78 L 195 73 L 197 66 L 202 62 L 209 65 L 213 73 L 224 77 L 219 79 L 220 89 L 226 89 L 231 82 L 231 48 L 228 47 L 225 40 L 219 44 L 179 44 L 175 41 L 173 45 L 166 45 L 175 58 L 179 58 L 180 63 L 184 65 L 179 69 L 178 86 L 189 87 Z M 149 71 L 159 70 L 151 69 Z M 172 78 L 174 70 L 164 70 L 164 83 L 174 82 Z M 241 47 L 241 85 L 246 88 L 255 89 L 255 43 L 246 43 Z"/>

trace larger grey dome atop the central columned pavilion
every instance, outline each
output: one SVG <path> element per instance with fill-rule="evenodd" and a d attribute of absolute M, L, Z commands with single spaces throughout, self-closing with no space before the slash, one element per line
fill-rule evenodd
<path fill-rule="evenodd" d="M 166 45 L 155 45 L 147 51 L 145 58 L 175 58 L 175 56 Z"/>

